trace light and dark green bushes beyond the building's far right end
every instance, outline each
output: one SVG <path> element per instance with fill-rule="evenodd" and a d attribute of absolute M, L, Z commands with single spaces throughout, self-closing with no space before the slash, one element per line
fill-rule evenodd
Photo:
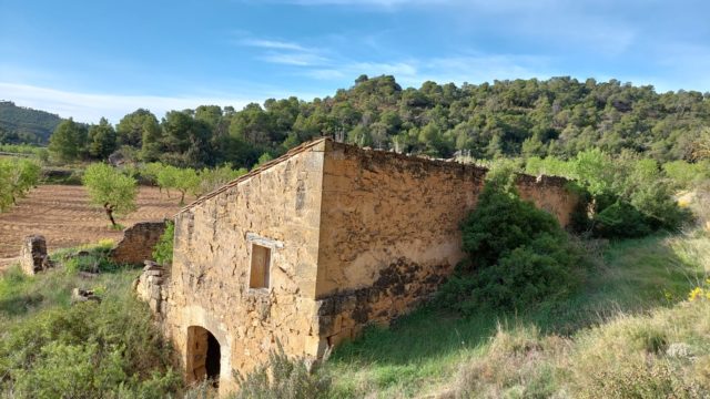
<path fill-rule="evenodd" d="M 699 176 L 710 173 L 702 172 L 703 164 L 678 161 L 666 166 L 661 168 L 656 161 L 629 152 L 612 157 L 595 149 L 569 161 L 531 157 L 526 172 L 572 178 L 589 194 L 587 217 L 576 219 L 579 232 L 598 237 L 639 237 L 658 229 L 677 231 L 689 221 L 690 214 L 678 206 L 673 194 L 694 181 L 686 172 L 694 171 Z"/>

